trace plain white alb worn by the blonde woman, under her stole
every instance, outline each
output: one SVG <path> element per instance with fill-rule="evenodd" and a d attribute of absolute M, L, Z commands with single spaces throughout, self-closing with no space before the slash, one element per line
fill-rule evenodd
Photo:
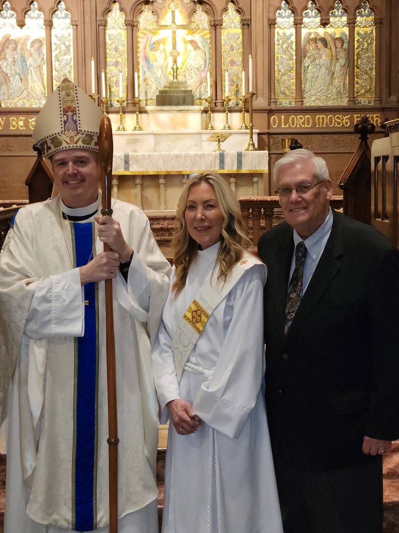
<path fill-rule="evenodd" d="M 186 369 L 178 384 L 174 367 L 173 334 L 214 268 L 218 246 L 198 251 L 185 288 L 176 300 L 169 293 L 153 350 L 161 422 L 166 403 L 177 398 L 203 420 L 192 435 L 170 425 L 162 532 L 281 533 L 263 395 L 263 264 L 245 271 L 198 337 L 187 362 L 207 376 Z"/>

